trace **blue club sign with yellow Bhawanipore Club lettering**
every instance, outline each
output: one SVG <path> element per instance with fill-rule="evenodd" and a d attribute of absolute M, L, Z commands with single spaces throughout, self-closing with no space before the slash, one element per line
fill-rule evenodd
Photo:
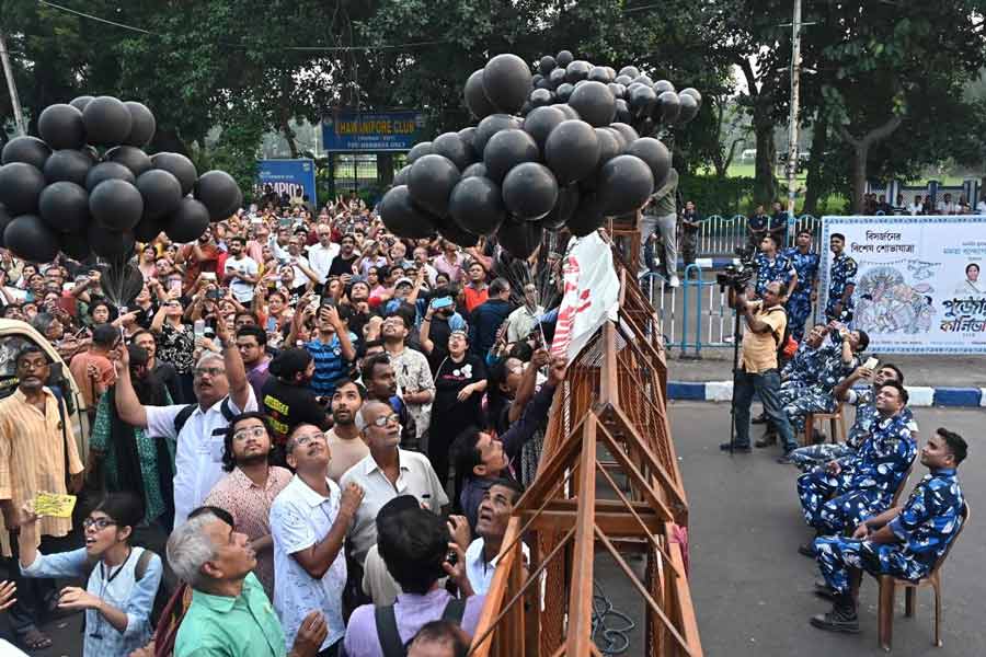
<path fill-rule="evenodd" d="M 326 151 L 408 151 L 424 141 L 421 112 L 339 112 L 322 119 L 322 145 Z"/>

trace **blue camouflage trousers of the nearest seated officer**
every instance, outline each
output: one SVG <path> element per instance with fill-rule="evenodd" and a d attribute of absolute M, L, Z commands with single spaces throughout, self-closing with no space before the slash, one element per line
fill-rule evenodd
<path fill-rule="evenodd" d="M 859 568 L 872 575 L 893 575 L 916 580 L 928 574 L 928 567 L 901 545 L 878 544 L 844 537 L 815 539 L 815 554 L 822 577 L 837 593 L 849 592 L 849 569 Z"/>

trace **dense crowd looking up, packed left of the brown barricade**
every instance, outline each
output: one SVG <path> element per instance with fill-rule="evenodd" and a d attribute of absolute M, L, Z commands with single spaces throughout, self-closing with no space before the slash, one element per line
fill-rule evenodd
<path fill-rule="evenodd" d="M 546 349 L 560 256 L 280 201 L 140 244 L 126 307 L 100 267 L 0 250 L 2 316 L 68 364 L 91 427 L 80 453 L 48 351 L 13 355 L 21 647 L 84 610 L 87 657 L 465 655 L 565 378 Z M 79 495 L 74 517 L 39 512 L 43 492 Z"/>

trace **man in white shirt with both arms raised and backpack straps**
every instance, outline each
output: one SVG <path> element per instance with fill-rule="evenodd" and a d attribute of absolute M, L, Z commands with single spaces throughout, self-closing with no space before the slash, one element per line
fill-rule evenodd
<path fill-rule="evenodd" d="M 130 356 L 119 350 L 116 366 L 116 410 L 123 422 L 146 428 L 148 436 L 177 440 L 174 460 L 174 526 L 202 505 L 226 474 L 222 452 L 230 420 L 256 411 L 256 395 L 226 322 L 216 324 L 221 355 L 207 351 L 195 365 L 193 388 L 197 404 L 145 406 L 130 381 Z"/>

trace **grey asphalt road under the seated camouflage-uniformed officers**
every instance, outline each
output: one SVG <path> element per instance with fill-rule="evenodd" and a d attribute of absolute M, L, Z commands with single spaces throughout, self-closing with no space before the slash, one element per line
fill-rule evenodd
<path fill-rule="evenodd" d="M 970 457 L 960 468 L 972 522 L 949 556 L 943 575 L 943 639 L 937 656 L 986 653 L 986 443 L 981 411 L 916 411 L 924 436 L 945 426 L 962 435 Z M 672 406 L 680 469 L 690 506 L 691 593 L 706 655 L 882 655 L 876 645 L 876 586 L 867 578 L 856 636 L 815 630 L 807 619 L 828 604 L 812 595 L 817 569 L 796 548 L 810 538 L 794 494 L 796 470 L 773 462 L 775 452 L 723 456 L 729 438 L 724 404 Z M 755 434 L 756 435 L 756 434 Z M 908 486 L 925 474 L 915 465 Z M 931 593 L 921 591 L 914 619 L 903 616 L 898 593 L 894 655 L 929 655 Z M 628 653 L 634 654 L 634 653 Z"/>

